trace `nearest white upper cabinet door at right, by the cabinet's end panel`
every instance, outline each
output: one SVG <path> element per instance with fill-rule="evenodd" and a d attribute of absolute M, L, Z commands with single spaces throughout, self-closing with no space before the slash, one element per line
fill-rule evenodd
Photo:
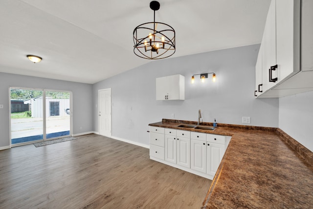
<path fill-rule="evenodd" d="M 276 83 L 300 70 L 299 0 L 276 0 L 276 63 Z"/>

